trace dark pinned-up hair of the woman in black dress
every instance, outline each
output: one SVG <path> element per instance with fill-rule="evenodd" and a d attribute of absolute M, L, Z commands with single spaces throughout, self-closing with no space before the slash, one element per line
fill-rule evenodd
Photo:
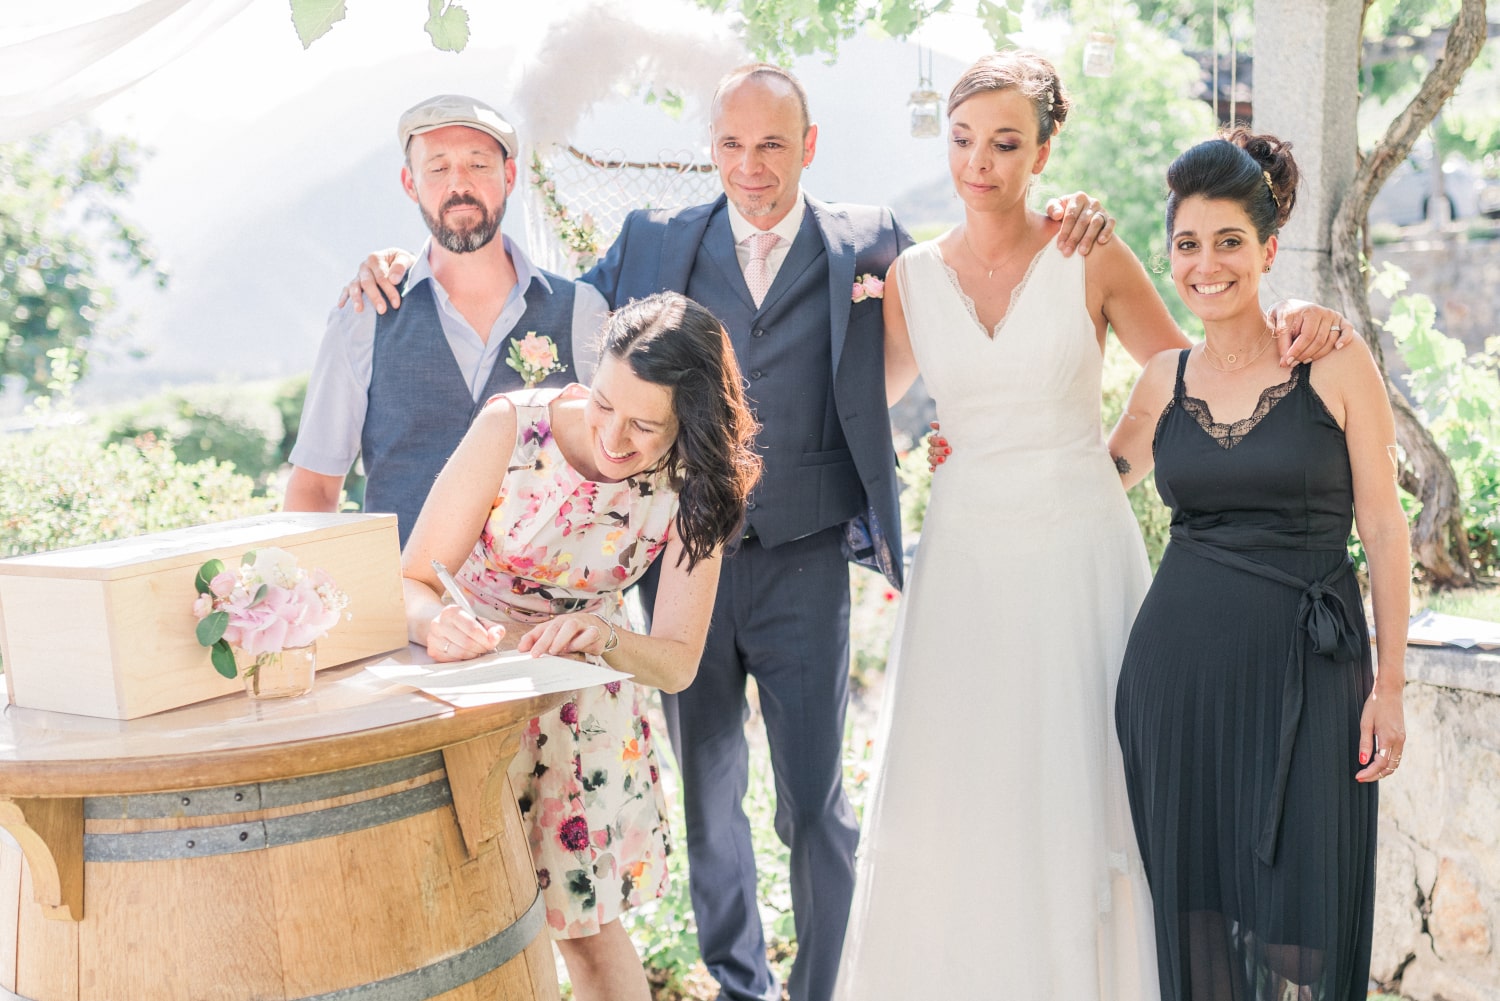
<path fill-rule="evenodd" d="M 1292 144 L 1245 126 L 1227 129 L 1198 143 L 1167 168 L 1167 239 L 1172 239 L 1178 204 L 1202 195 L 1233 201 L 1264 243 L 1292 218 L 1298 201 L 1298 162 Z"/>

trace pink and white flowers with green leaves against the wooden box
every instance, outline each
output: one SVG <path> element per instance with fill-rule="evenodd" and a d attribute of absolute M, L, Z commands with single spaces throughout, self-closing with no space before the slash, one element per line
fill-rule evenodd
<path fill-rule="evenodd" d="M 213 650 L 213 668 L 226 678 L 238 674 L 234 650 L 260 666 L 267 654 L 324 636 L 350 603 L 327 573 L 303 570 L 297 557 L 276 548 L 246 552 L 232 572 L 222 560 L 208 560 L 196 585 L 198 642 Z"/>

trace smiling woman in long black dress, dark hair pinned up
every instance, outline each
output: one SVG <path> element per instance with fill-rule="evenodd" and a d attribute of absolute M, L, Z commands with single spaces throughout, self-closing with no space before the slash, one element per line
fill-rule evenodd
<path fill-rule="evenodd" d="M 1410 551 L 1365 342 L 1290 378 L 1270 350 L 1260 276 L 1296 180 L 1284 143 L 1244 129 L 1173 162 L 1172 275 L 1204 341 L 1148 363 L 1110 438 L 1125 485 L 1155 464 L 1172 507 L 1116 702 L 1167 1001 L 1362 1001 L 1368 984 Z"/>

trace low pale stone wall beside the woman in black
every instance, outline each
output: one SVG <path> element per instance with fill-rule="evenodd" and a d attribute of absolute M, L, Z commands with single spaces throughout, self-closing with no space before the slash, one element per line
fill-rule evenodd
<path fill-rule="evenodd" d="M 1371 978 L 1500 1001 L 1500 654 L 1412 647 L 1407 744 L 1380 783 Z"/>

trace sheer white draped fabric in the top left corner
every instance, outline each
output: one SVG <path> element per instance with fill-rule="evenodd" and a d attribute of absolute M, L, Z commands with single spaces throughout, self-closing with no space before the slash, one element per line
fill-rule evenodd
<path fill-rule="evenodd" d="M 8 11 L 0 21 L 0 143 L 90 111 L 186 53 L 249 3 L 50 0 L 27 5 L 26 12 Z"/>

